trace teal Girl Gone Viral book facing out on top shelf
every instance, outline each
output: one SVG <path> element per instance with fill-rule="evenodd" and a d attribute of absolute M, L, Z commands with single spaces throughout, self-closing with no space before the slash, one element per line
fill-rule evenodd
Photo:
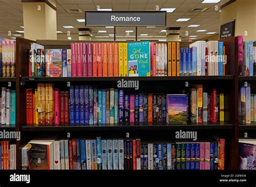
<path fill-rule="evenodd" d="M 128 43 L 128 71 L 131 76 L 150 76 L 150 42 Z"/>

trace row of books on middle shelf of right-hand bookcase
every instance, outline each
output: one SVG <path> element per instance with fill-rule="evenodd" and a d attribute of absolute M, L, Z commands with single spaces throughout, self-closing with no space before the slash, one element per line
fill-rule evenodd
<path fill-rule="evenodd" d="M 239 122 L 251 124 L 256 121 L 256 94 L 251 94 L 251 84 L 241 85 L 238 100 Z"/>

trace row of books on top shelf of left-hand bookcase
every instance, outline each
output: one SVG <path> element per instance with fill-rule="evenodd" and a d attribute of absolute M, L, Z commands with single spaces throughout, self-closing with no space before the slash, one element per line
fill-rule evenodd
<path fill-rule="evenodd" d="M 0 37 L 0 77 L 15 77 L 16 41 Z"/>

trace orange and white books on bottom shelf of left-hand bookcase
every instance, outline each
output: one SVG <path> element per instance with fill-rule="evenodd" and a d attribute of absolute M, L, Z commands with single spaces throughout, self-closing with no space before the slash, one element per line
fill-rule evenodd
<path fill-rule="evenodd" d="M 0 170 L 16 169 L 16 144 L 1 141 L 0 158 Z"/>

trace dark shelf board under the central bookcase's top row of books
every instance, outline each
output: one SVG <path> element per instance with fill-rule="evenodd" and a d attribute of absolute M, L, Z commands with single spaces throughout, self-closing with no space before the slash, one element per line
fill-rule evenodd
<path fill-rule="evenodd" d="M 24 82 L 72 82 L 72 81 L 197 81 L 197 80 L 233 80 L 233 75 L 225 76 L 175 76 L 175 77 L 22 77 Z"/>

